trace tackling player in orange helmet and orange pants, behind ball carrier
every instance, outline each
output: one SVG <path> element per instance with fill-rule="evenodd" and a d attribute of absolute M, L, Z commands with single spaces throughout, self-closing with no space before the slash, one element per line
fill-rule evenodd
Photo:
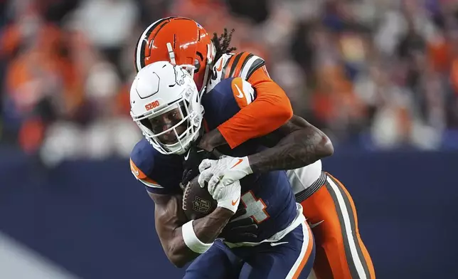
<path fill-rule="evenodd" d="M 304 216 L 316 236 L 316 277 L 375 278 L 371 256 L 358 232 L 353 199 L 346 187 L 324 172 L 321 166 L 320 159 L 332 154 L 331 142 L 309 122 L 293 115 L 287 95 L 270 78 L 265 60 L 254 53 L 235 51 L 230 46 L 231 36 L 232 31 L 225 29 L 221 36 L 214 33 L 212 38 L 196 21 L 171 16 L 151 23 L 137 41 L 134 56 L 137 71 L 156 61 L 166 60 L 186 69 L 201 93 L 211 91 L 227 78 L 242 78 L 255 89 L 256 96 L 250 99 L 244 95 L 245 91 L 239 91 L 240 87 L 234 88 L 234 98 L 240 110 L 206 132 L 196 142 L 197 147 L 191 148 L 184 184 L 199 172 L 198 164 L 203 153 L 196 153 L 201 151 L 198 148 L 207 151 L 215 147 L 220 149 L 223 145 L 235 148 L 250 139 L 263 137 L 264 144 L 272 149 L 245 158 L 225 157 L 218 162 L 203 162 L 200 166 L 203 172 L 199 178 L 201 183 L 211 180 L 213 189 L 218 182 L 220 187 L 250 172 L 287 170 L 296 201 L 302 204 Z M 243 160 L 233 168 L 233 163 L 240 159 Z M 143 177 L 140 172 L 139 175 Z M 154 185 L 147 180 L 142 181 Z M 239 221 L 243 220 L 247 219 Z M 238 226 L 236 223 L 226 226 L 223 233 L 230 231 L 231 225 Z M 243 228 L 245 236 L 249 234 L 246 228 Z"/>

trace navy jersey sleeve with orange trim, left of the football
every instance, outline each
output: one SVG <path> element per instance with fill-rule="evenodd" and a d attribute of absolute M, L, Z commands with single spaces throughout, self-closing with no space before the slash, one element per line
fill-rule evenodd
<path fill-rule="evenodd" d="M 169 181 L 164 171 L 158 169 L 160 157 L 146 139 L 138 142 L 130 154 L 130 170 L 135 179 L 144 184 L 145 189 L 153 194 L 175 194 L 179 184 Z"/>

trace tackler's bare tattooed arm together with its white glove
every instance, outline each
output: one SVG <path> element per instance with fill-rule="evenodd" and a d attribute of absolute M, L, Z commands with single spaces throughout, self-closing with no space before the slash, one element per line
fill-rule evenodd
<path fill-rule="evenodd" d="M 213 189 L 220 182 L 228 185 L 252 173 L 298 169 L 334 152 L 323 132 L 296 115 L 265 139 L 271 148 L 247 157 L 204 159 L 199 165 L 199 184 L 208 181 L 208 189 Z"/>

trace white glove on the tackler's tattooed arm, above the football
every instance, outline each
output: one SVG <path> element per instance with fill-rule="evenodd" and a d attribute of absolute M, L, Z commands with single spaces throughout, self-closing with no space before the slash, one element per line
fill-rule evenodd
<path fill-rule="evenodd" d="M 208 181 L 208 192 L 212 194 L 217 186 L 228 186 L 252 174 L 252 169 L 248 157 L 225 156 L 218 160 L 204 159 L 199 165 L 199 172 L 198 184 L 203 187 Z"/>

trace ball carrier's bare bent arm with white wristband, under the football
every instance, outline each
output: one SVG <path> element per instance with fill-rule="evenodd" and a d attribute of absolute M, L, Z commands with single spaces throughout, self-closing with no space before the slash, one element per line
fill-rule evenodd
<path fill-rule="evenodd" d="M 181 209 L 181 195 L 149 192 L 149 196 L 156 205 L 154 219 L 162 248 L 171 263 L 179 268 L 210 248 L 234 215 L 233 211 L 229 209 L 217 207 L 208 216 L 186 223 L 186 216 Z M 189 231 L 190 229 L 193 231 Z M 192 239 L 192 233 L 201 243 L 193 243 L 193 241 L 196 242 L 196 239 Z M 185 238 L 188 239 L 185 241 Z"/>

